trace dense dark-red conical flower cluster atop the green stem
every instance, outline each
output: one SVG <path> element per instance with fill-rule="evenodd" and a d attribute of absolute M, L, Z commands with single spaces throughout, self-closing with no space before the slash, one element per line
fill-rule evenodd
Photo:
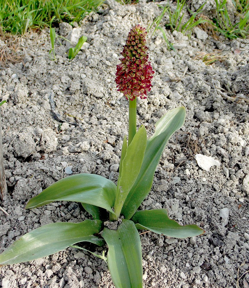
<path fill-rule="evenodd" d="M 117 65 L 115 81 L 118 91 L 130 100 L 134 100 L 136 96 L 146 98 L 151 87 L 154 71 L 146 53 L 146 34 L 145 28 L 140 25 L 132 27 L 121 53 L 124 58 L 120 58 L 121 63 Z"/>

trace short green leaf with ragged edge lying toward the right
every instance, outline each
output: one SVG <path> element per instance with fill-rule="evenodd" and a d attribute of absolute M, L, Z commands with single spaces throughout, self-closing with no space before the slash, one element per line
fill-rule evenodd
<path fill-rule="evenodd" d="M 167 209 L 137 211 L 131 218 L 137 229 L 151 230 L 157 234 L 186 238 L 201 235 L 204 231 L 197 225 L 180 225 L 169 219 Z"/>

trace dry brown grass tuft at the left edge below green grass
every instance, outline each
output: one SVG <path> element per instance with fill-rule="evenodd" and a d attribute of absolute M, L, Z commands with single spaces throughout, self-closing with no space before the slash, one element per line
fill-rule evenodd
<path fill-rule="evenodd" d="M 6 67 L 7 62 L 18 63 L 22 62 L 24 55 L 19 54 L 20 47 L 14 43 L 6 43 L 0 46 L 0 65 Z"/>

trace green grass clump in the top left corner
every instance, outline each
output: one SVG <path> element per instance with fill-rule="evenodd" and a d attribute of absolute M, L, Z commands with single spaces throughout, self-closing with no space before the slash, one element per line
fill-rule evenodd
<path fill-rule="evenodd" d="M 31 28 L 55 22 L 78 22 L 87 13 L 97 11 L 103 0 L 8 0 L 0 1 L 1 33 L 24 34 Z"/>

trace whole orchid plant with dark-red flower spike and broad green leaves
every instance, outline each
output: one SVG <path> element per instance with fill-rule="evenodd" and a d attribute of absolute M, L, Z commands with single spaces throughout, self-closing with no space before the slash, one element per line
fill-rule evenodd
<path fill-rule="evenodd" d="M 142 288 L 142 251 L 139 229 L 186 238 L 203 234 L 196 225 L 181 226 L 169 219 L 166 209 L 137 210 L 150 192 L 156 166 L 169 137 L 184 123 L 184 107 L 168 111 L 147 139 L 144 125 L 136 128 L 136 98 L 146 98 L 154 71 L 148 61 L 145 28 L 129 32 L 117 65 L 116 83 L 129 100 L 129 135 L 124 136 L 117 185 L 94 174 L 61 179 L 26 205 L 26 209 L 54 201 L 81 202 L 93 219 L 80 223 L 57 222 L 41 226 L 16 240 L 0 255 L 0 266 L 31 261 L 79 242 L 108 246 L 107 261 L 116 288 Z"/>

